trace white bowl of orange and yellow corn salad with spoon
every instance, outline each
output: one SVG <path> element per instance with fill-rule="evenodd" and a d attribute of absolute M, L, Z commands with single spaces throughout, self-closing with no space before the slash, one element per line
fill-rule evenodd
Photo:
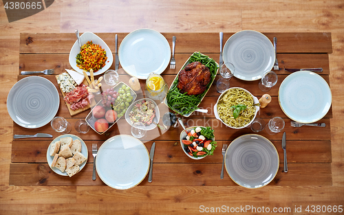
<path fill-rule="evenodd" d="M 90 75 L 90 69 L 94 76 L 107 71 L 114 62 L 109 46 L 96 34 L 85 32 L 80 36 L 81 48 L 78 40 L 69 52 L 69 64 L 78 73 L 86 71 Z"/>

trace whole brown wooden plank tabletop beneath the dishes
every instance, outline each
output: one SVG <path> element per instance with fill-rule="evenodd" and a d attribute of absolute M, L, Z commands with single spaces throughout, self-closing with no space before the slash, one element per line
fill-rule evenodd
<path fill-rule="evenodd" d="M 233 33 L 224 33 L 226 41 Z M 288 151 L 288 173 L 283 172 L 283 150 L 281 148 L 282 133 L 277 135 L 268 135 L 265 131 L 260 135 L 267 137 L 276 146 L 280 157 L 279 171 L 275 179 L 268 186 L 275 185 L 332 185 L 331 172 L 331 133 L 330 118 L 332 109 L 319 122 L 325 122 L 325 128 L 316 128 L 312 126 L 303 126 L 294 128 L 290 126 L 290 119 L 281 111 L 278 103 L 277 93 L 279 85 L 288 72 L 284 67 L 289 68 L 310 68 L 322 67 L 321 76 L 329 82 L 329 58 L 332 53 L 332 42 L 330 33 L 264 33 L 270 41 L 276 36 L 277 58 L 281 70 L 277 71 L 278 82 L 268 93 L 272 95 L 272 102 L 260 111 L 260 117 L 266 122 L 271 117 L 283 117 L 286 122 L 287 151 Z M 101 33 L 97 34 L 103 38 L 110 49 L 115 50 L 115 34 Z M 119 33 L 119 43 L 127 34 Z M 202 52 L 214 58 L 219 59 L 219 34 L 216 33 L 163 33 L 170 45 L 172 45 L 172 36 L 177 37 L 175 48 L 175 60 L 177 62 L 175 69 L 169 67 L 162 73 L 164 80 L 170 85 L 175 78 L 180 67 L 189 58 L 193 52 Z M 76 41 L 75 34 L 21 34 L 19 71 L 39 71 L 43 69 L 55 69 L 55 73 L 61 73 L 65 69 L 71 69 L 68 56 L 69 51 Z M 114 69 L 114 64 L 111 66 Z M 129 76 L 122 70 L 119 70 L 120 80 L 128 82 Z M 85 111 L 74 117 L 69 115 L 67 106 L 63 102 L 61 91 L 53 75 L 43 77 L 49 79 L 55 84 L 60 93 L 60 108 L 57 115 L 63 116 L 73 126 L 79 119 L 85 119 L 89 111 Z M 25 76 L 18 76 L 18 80 Z M 217 77 L 218 78 L 218 77 Z M 216 80 L 215 80 L 216 81 Z M 243 87 L 248 89 L 253 95 L 260 98 L 264 92 L 258 88 L 258 80 L 246 82 L 237 78 L 230 80 L 230 87 Z M 141 80 L 141 87 L 144 89 L 144 82 Z M 224 179 L 219 175 L 222 168 L 222 144 L 230 143 L 236 137 L 246 133 L 252 133 L 250 128 L 234 130 L 224 126 L 219 120 L 215 119 L 213 114 L 213 105 L 217 101 L 219 93 L 215 89 L 215 83 L 208 91 L 206 98 L 200 104 L 203 109 L 208 109 L 208 113 L 193 113 L 188 118 L 183 118 L 190 126 L 195 123 L 200 126 L 213 126 L 215 129 L 215 139 L 217 141 L 217 150 L 213 156 L 208 156 L 201 160 L 193 160 L 184 155 L 179 143 L 179 135 L 182 128 L 171 129 L 163 135 L 155 138 L 156 142 L 155 157 L 153 162 L 153 182 L 148 183 L 147 177 L 139 186 L 238 186 L 234 183 L 228 174 Z M 121 134 L 130 134 L 130 126 L 124 119 L 118 121 L 121 128 Z M 47 165 L 46 152 L 52 142 L 52 138 L 43 139 L 19 139 L 12 141 L 12 160 L 10 163 L 10 185 L 105 185 L 98 177 L 92 181 L 92 144 L 98 144 L 98 148 L 106 139 L 118 135 L 118 125 L 113 126 L 105 135 L 98 135 L 90 130 L 85 135 L 78 134 L 72 128 L 72 134 L 81 137 L 89 151 L 89 159 L 85 168 L 74 177 L 62 177 L 54 173 Z M 158 128 L 155 128 L 158 129 Z M 123 131 L 123 132 L 122 132 Z M 50 133 L 53 138 L 58 137 L 59 133 L 52 130 L 50 124 L 41 128 L 28 129 L 13 123 L 13 134 L 35 134 Z M 153 141 L 144 142 L 149 150 Z M 175 144 L 177 143 L 177 144 Z"/>

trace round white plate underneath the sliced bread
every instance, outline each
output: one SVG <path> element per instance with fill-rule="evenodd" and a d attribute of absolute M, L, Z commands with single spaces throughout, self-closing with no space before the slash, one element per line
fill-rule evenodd
<path fill-rule="evenodd" d="M 88 159 L 88 150 L 87 150 L 87 146 L 85 144 L 85 142 L 83 142 L 83 139 L 81 139 L 80 137 L 76 136 L 76 135 L 61 135 L 61 136 L 58 136 L 56 137 L 49 145 L 49 147 L 47 148 L 47 163 L 49 164 L 50 168 L 56 173 L 56 174 L 60 174 L 60 175 L 63 175 L 63 176 L 68 176 L 67 172 L 61 172 L 60 170 L 58 170 L 58 168 L 56 167 L 52 167 L 52 159 L 54 159 L 54 156 L 50 156 L 50 146 L 60 140 L 61 138 L 63 137 L 72 137 L 73 140 L 80 140 L 81 142 L 81 154 L 83 154 L 85 157 L 86 157 L 86 161 L 81 163 L 80 165 L 80 170 L 79 172 L 85 167 L 86 163 L 87 163 L 87 159 Z"/>

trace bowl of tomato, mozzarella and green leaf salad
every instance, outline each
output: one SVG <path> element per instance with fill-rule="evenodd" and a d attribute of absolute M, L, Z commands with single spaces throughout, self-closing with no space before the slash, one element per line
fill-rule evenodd
<path fill-rule="evenodd" d="M 185 155 L 191 159 L 202 159 L 213 155 L 217 146 L 211 127 L 193 126 L 180 133 L 180 145 Z"/>

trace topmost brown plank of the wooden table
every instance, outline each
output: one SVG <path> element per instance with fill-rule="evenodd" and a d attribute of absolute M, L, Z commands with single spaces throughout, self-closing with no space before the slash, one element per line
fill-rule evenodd
<path fill-rule="evenodd" d="M 82 32 L 80 32 L 82 34 Z M 118 44 L 128 33 L 96 33 L 107 43 L 111 52 L 115 51 L 115 34 Z M 270 41 L 278 38 L 279 53 L 332 53 L 331 33 L 270 33 L 263 32 Z M 175 53 L 218 53 L 218 33 L 162 33 L 172 45 L 172 36 L 177 37 Z M 224 32 L 224 43 L 233 33 Z M 76 41 L 74 33 L 22 33 L 19 52 L 23 53 L 69 53 Z"/>

